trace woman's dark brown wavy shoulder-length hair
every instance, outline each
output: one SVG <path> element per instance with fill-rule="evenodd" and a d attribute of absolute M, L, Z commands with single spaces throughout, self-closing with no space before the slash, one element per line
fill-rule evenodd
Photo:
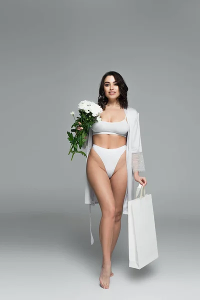
<path fill-rule="evenodd" d="M 109 76 L 109 75 L 112 75 L 114 77 L 114 80 L 117 81 L 119 92 L 120 92 L 117 100 L 119 101 L 120 107 L 127 108 L 128 107 L 128 101 L 127 101 L 128 87 L 127 87 L 123 77 L 116 71 L 108 71 L 102 76 L 102 79 L 100 81 L 100 86 L 99 86 L 98 105 L 104 110 L 105 105 L 108 102 L 108 98 L 105 96 L 103 87 L 104 87 L 105 77 Z"/>

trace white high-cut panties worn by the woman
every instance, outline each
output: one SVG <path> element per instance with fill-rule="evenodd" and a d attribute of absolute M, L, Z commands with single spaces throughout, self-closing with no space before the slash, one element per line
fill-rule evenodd
<path fill-rule="evenodd" d="M 92 148 L 96 153 L 100 156 L 108 177 L 110 178 L 114 172 L 116 164 L 121 156 L 121 154 L 125 151 L 126 145 L 123 145 L 118 148 L 107 149 L 100 147 L 96 144 L 92 145 Z"/>

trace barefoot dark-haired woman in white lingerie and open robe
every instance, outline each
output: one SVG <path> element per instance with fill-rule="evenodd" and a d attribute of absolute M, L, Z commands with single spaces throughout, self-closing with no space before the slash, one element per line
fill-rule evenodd
<path fill-rule="evenodd" d="M 98 96 L 98 105 L 103 109 L 101 121 L 92 125 L 85 143 L 85 203 L 99 203 L 102 213 L 99 224 L 102 248 L 99 281 L 103 288 L 109 288 L 109 277 L 113 276 L 111 255 L 119 236 L 121 215 L 127 213 L 127 201 L 131 199 L 130 171 L 135 181 L 142 185 L 147 183 L 146 178 L 138 174 L 138 171 L 144 170 L 139 118 L 138 112 L 128 107 L 127 90 L 119 73 L 109 71 L 103 75 Z M 77 129 L 83 128 L 78 126 Z"/>

